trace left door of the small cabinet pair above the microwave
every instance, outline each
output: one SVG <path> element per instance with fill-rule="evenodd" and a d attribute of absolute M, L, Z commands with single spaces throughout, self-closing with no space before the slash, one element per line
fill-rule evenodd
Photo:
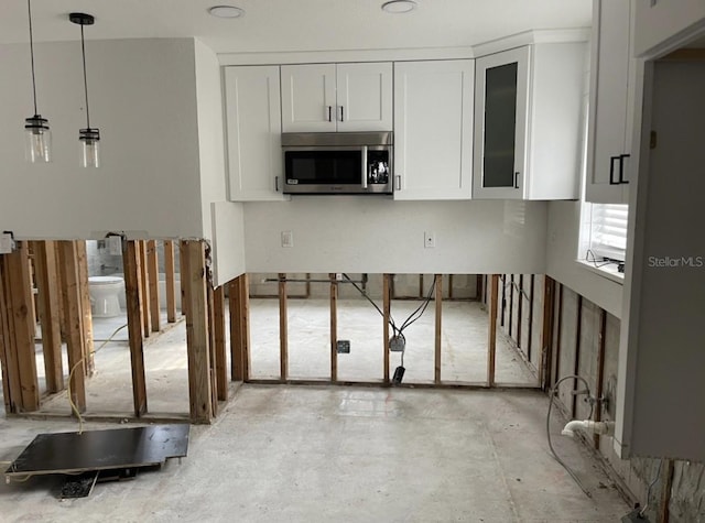
<path fill-rule="evenodd" d="M 335 132 L 335 64 L 283 65 L 283 132 Z"/>

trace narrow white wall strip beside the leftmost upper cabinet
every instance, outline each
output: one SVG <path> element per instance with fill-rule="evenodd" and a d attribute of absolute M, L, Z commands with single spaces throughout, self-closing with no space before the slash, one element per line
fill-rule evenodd
<path fill-rule="evenodd" d="M 195 41 L 203 236 L 213 239 L 210 204 L 226 199 L 223 83 L 216 54 Z"/>

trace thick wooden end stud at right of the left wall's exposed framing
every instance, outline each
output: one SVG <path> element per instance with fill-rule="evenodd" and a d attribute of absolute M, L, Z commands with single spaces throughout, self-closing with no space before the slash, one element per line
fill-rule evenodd
<path fill-rule="evenodd" d="M 182 284 L 186 298 L 186 346 L 191 421 L 209 423 L 213 417 L 210 349 L 208 347 L 206 255 L 200 241 L 182 240 Z"/>

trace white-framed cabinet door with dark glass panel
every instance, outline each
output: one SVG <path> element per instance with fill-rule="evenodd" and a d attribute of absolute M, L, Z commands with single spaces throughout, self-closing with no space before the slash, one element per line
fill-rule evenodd
<path fill-rule="evenodd" d="M 529 47 L 475 61 L 475 198 L 522 198 L 527 174 Z"/>

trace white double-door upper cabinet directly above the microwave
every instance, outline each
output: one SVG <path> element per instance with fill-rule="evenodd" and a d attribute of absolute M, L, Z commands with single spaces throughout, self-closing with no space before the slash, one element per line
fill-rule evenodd
<path fill-rule="evenodd" d="M 391 131 L 392 64 L 283 65 L 283 132 Z"/>

